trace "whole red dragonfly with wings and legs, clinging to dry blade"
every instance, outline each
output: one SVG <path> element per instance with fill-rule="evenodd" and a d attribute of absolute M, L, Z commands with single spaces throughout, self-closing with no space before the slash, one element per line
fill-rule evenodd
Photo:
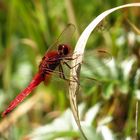
<path fill-rule="evenodd" d="M 50 81 L 52 74 L 57 73 L 59 74 L 59 77 L 61 79 L 64 79 L 66 81 L 72 81 L 70 80 L 70 78 L 68 78 L 68 76 L 66 77 L 66 74 L 63 71 L 63 65 L 66 65 L 69 69 L 73 68 L 67 62 L 74 60 L 80 55 L 82 55 L 79 54 L 75 56 L 75 58 L 72 57 L 73 56 L 72 47 L 69 45 L 69 41 L 73 36 L 74 32 L 75 32 L 75 26 L 73 24 L 68 24 L 64 28 L 64 30 L 59 35 L 56 42 L 52 46 L 50 46 L 46 51 L 44 57 L 42 58 L 39 64 L 38 72 L 35 74 L 32 81 L 9 104 L 7 109 L 2 113 L 2 117 L 5 117 L 13 109 L 15 109 L 41 82 L 45 82 L 45 84 L 47 85 Z M 99 51 L 98 54 L 106 54 L 106 52 Z M 76 64 L 75 66 L 77 65 L 78 64 Z M 56 70 L 57 67 L 59 71 Z M 78 82 L 78 81 L 77 79 L 75 79 L 73 82 Z M 80 85 L 80 83 L 78 84 Z"/>

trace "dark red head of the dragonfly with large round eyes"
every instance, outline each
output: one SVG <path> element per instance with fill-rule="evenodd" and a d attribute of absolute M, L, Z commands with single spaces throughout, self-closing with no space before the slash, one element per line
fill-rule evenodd
<path fill-rule="evenodd" d="M 70 47 L 66 44 L 60 44 L 58 46 L 58 53 L 59 55 L 66 56 L 70 53 Z"/>

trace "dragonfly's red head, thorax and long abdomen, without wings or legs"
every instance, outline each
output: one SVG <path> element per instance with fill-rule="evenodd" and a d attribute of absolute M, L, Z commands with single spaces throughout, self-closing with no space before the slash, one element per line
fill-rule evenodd
<path fill-rule="evenodd" d="M 8 108 L 2 113 L 4 117 L 11 112 L 19 103 L 21 103 L 26 96 L 28 96 L 32 90 L 38 86 L 42 81 L 48 81 L 52 72 L 60 64 L 60 61 L 69 54 L 69 47 L 61 44 L 58 46 L 58 50 L 48 52 L 39 65 L 39 71 L 34 76 L 30 84 L 25 88 L 8 106 Z"/>

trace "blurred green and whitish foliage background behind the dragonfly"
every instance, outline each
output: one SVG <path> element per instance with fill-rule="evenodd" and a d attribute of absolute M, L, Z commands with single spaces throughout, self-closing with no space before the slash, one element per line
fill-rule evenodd
<path fill-rule="evenodd" d="M 78 35 L 100 13 L 126 2 L 136 1 L 0 0 L 0 112 L 28 85 L 41 57 L 67 23 L 76 24 Z M 70 10 L 73 13 L 69 13 Z M 80 116 L 85 121 L 83 129 L 91 139 L 136 138 L 140 34 L 134 26 L 140 29 L 139 19 L 139 8 L 115 12 L 101 23 L 88 41 L 87 54 L 93 49 L 104 49 L 112 56 L 109 61 L 93 61 L 85 55 L 81 74 L 97 81 L 81 80 L 78 103 L 84 103 L 80 104 L 84 106 L 80 107 Z M 73 46 L 77 39 L 73 37 Z M 9 122 L 0 140 L 81 139 L 68 109 L 68 84 L 55 76 L 53 79 L 48 86 L 41 84 L 34 91 L 34 96 L 41 94 L 39 101 L 16 121 Z M 0 127 L 4 128 L 4 119 L 0 121 Z M 140 117 L 137 123 L 140 133 Z"/>

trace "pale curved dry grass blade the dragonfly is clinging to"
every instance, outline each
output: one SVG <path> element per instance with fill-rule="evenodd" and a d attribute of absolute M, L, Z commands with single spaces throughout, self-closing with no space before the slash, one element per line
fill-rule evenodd
<path fill-rule="evenodd" d="M 122 9 L 122 8 L 127 8 L 127 7 L 136 7 L 136 6 L 140 6 L 140 3 L 131 3 L 131 4 L 126 4 L 126 5 L 122 5 L 122 6 L 118 6 L 112 9 L 109 9 L 105 12 L 103 12 L 102 14 L 100 14 L 99 16 L 97 16 L 88 26 L 87 28 L 83 31 L 83 33 L 81 34 L 81 36 L 79 37 L 79 40 L 77 41 L 75 50 L 74 50 L 74 56 L 77 54 L 84 54 L 84 49 L 87 43 L 87 40 L 91 34 L 91 32 L 95 29 L 95 27 L 109 14 L 111 14 L 112 12 Z M 72 62 L 72 67 L 76 66 L 76 64 L 78 63 L 79 65 L 77 65 L 76 67 L 74 67 L 73 69 L 71 69 L 70 71 L 70 77 L 76 77 L 76 79 L 78 80 L 78 75 L 80 74 L 80 68 L 81 68 L 81 63 L 82 63 L 82 59 L 83 56 L 81 55 L 81 57 L 78 57 L 77 59 L 75 59 Z M 70 103 L 71 103 L 71 108 L 72 108 L 72 112 L 75 118 L 75 121 L 79 127 L 80 132 L 82 133 L 84 139 L 88 139 L 86 138 L 82 128 L 81 128 L 81 124 L 80 124 L 80 119 L 79 119 L 79 114 L 78 114 L 78 107 L 77 107 L 77 97 L 76 94 L 78 92 L 79 89 L 79 84 L 78 82 L 72 82 L 74 80 L 71 80 L 70 82 L 70 86 L 69 86 L 69 97 L 70 97 Z"/>

